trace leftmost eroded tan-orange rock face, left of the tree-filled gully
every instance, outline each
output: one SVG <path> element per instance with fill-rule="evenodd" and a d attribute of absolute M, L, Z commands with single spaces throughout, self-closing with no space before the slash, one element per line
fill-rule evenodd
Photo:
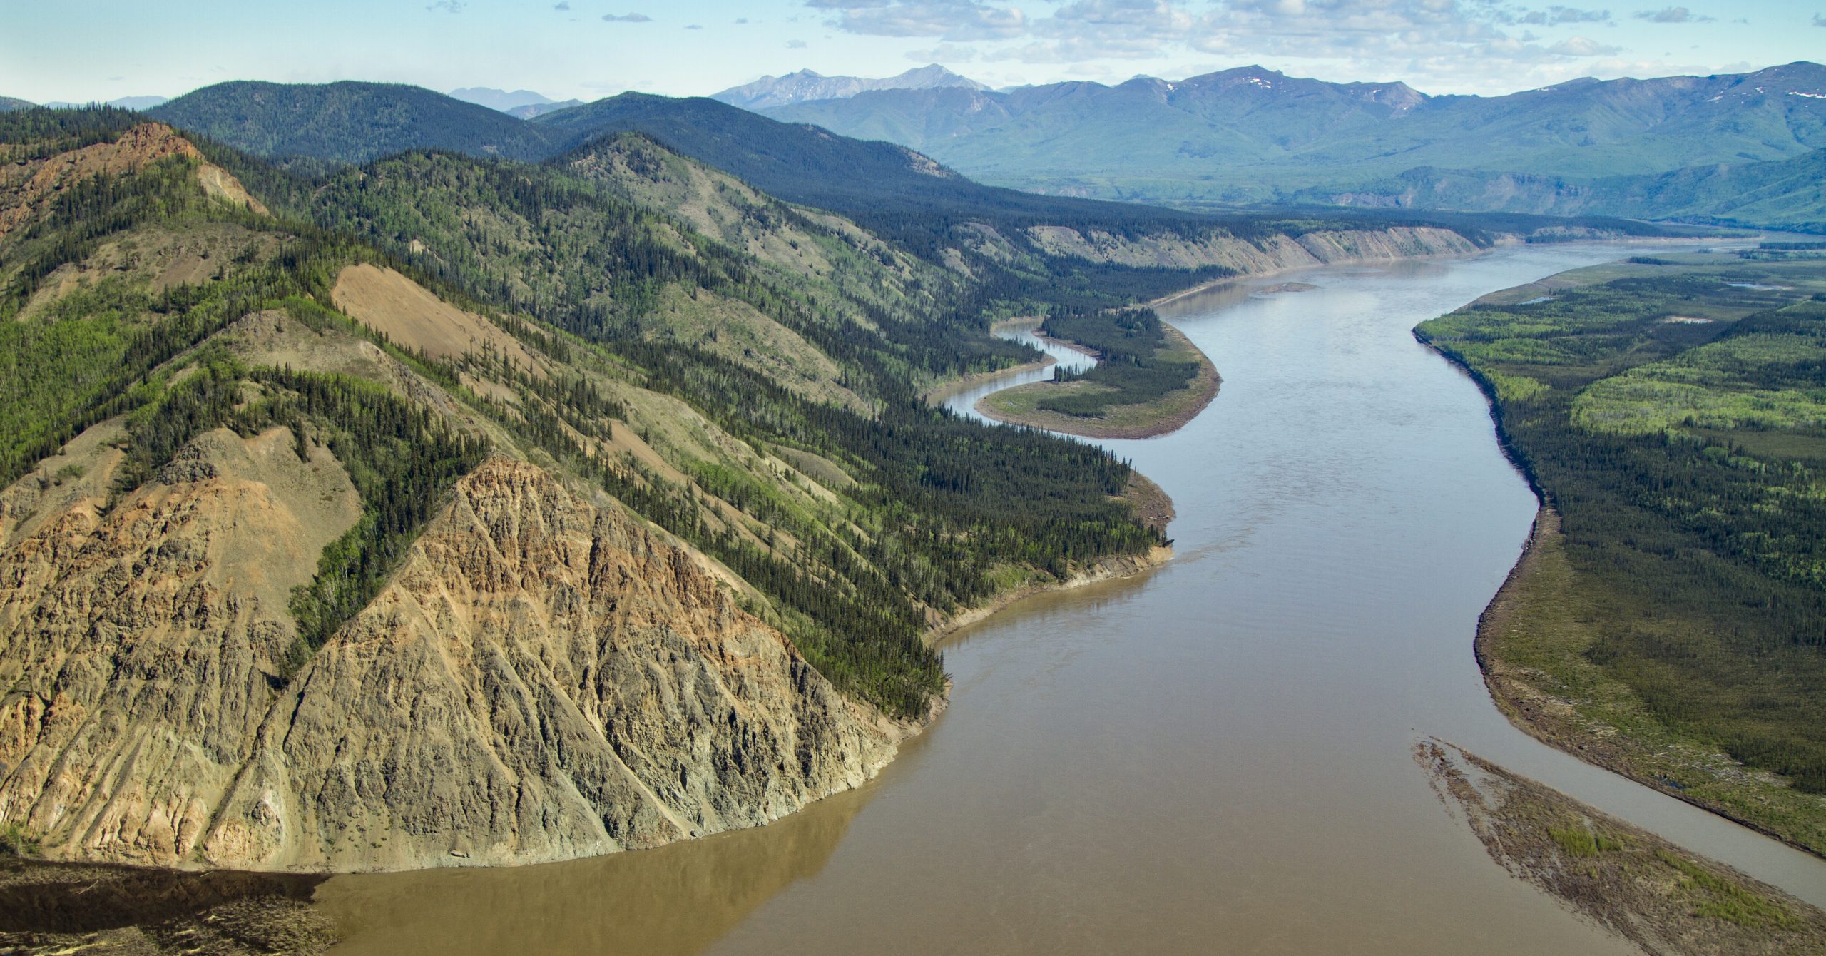
<path fill-rule="evenodd" d="M 210 431 L 108 510 L 20 494 L 44 475 L 4 499 L 24 521 L 0 552 L 0 821 L 66 855 L 186 861 L 272 704 L 287 592 L 360 503 L 287 430 Z"/>

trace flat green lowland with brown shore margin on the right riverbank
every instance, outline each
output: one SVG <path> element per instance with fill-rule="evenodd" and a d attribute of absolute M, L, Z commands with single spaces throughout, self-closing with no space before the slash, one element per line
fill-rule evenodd
<path fill-rule="evenodd" d="M 1479 634 L 1499 704 L 1826 854 L 1826 261 L 1786 252 L 1574 271 L 1415 335 L 1543 501 Z"/>

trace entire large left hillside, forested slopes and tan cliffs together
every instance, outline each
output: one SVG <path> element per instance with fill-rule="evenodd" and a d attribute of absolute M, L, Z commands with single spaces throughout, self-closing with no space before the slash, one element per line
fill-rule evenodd
<path fill-rule="evenodd" d="M 0 148 L 0 824 L 47 852 L 752 826 L 929 717 L 931 625 L 1160 559 L 1127 464 L 918 400 L 1023 358 L 964 278 L 650 141 L 298 179 L 31 110 Z"/>

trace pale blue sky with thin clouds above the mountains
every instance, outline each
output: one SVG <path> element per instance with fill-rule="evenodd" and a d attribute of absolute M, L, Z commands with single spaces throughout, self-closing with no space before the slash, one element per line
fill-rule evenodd
<path fill-rule="evenodd" d="M 990 86 L 1260 64 L 1499 95 L 1574 77 L 1826 60 L 1826 0 L 0 0 L 0 95 L 175 97 L 223 80 L 411 82 L 593 101 L 809 68 L 939 62 Z"/>

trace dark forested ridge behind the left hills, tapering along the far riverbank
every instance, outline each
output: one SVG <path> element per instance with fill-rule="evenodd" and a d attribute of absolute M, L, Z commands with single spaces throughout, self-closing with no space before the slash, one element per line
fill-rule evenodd
<path fill-rule="evenodd" d="M 893 238 L 917 254 L 942 261 L 948 250 L 981 245 L 982 236 L 959 230 L 992 227 L 993 243 L 1012 243 L 1028 256 L 1032 272 L 1046 281 L 1092 285 L 1072 278 L 1072 263 L 1050 261 L 1026 236 L 1032 227 L 1097 230 L 1123 238 L 1233 236 L 1249 241 L 1300 236 L 1311 230 L 1428 225 L 1453 228 L 1485 243 L 1494 232 L 1532 234 L 1563 227 L 1603 232 L 1649 230 L 1627 221 L 1521 221 L 1501 227 L 1463 216 L 1402 210 L 1300 210 L 1192 214 L 1165 207 L 1039 196 L 984 186 L 926 155 L 889 143 L 867 143 L 814 126 L 778 122 L 710 99 L 668 99 L 645 93 L 542 113 L 519 121 L 442 93 L 407 86 L 340 82 L 281 86 L 230 82 L 197 90 L 153 112 L 236 150 L 268 159 L 307 155 L 299 168 L 365 163 L 415 148 L 453 150 L 506 159 L 557 159 L 624 133 L 645 133 L 666 148 L 734 174 L 789 203 L 827 208 Z M 1448 221 L 1452 219 L 1452 221 Z M 1037 256 L 1037 258 L 1034 258 Z M 1006 250 L 1004 250 L 1006 258 Z M 1118 281 L 1116 285 L 1123 285 Z M 1118 294 L 1127 296 L 1121 289 Z"/>

